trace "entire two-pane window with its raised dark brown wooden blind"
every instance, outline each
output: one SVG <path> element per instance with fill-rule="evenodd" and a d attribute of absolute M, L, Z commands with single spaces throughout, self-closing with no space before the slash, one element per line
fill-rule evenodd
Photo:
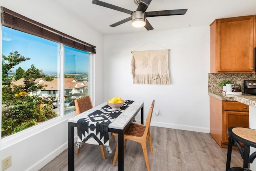
<path fill-rule="evenodd" d="M 2 9 L 1 128 L 6 137 L 75 111 L 74 99 L 89 94 L 95 46 Z"/>

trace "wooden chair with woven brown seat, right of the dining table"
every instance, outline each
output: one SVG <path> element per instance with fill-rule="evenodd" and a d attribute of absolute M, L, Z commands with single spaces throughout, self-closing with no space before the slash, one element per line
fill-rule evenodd
<path fill-rule="evenodd" d="M 148 171 L 150 171 L 150 167 L 149 167 L 149 161 L 148 161 L 148 152 L 147 152 L 146 142 L 148 140 L 148 143 L 150 145 L 150 151 L 153 154 L 153 147 L 152 147 L 152 142 L 150 137 L 150 122 L 151 122 L 152 112 L 154 109 L 154 103 L 155 103 L 155 100 L 152 101 L 152 104 L 148 111 L 146 125 L 142 125 L 138 123 L 130 123 L 128 128 L 124 131 L 124 139 L 125 139 L 124 147 L 126 146 L 127 139 L 140 143 L 142 145 L 142 150 L 144 153 Z M 118 137 L 118 133 L 113 133 L 113 135 Z M 117 155 L 118 155 L 118 142 L 116 145 L 116 153 L 114 156 L 113 166 L 116 164 Z"/>

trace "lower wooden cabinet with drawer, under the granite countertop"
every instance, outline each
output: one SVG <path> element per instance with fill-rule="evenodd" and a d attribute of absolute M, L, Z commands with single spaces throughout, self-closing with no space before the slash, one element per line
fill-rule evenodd
<path fill-rule="evenodd" d="M 210 135 L 220 147 L 228 147 L 227 129 L 233 126 L 249 128 L 249 106 L 210 96 Z"/>

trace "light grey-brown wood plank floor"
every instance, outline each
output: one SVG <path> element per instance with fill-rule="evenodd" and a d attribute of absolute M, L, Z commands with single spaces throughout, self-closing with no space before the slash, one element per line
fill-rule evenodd
<path fill-rule="evenodd" d="M 208 133 L 184 131 L 162 127 L 150 127 L 154 153 L 148 158 L 151 171 L 224 171 L 226 169 L 226 148 L 221 148 Z M 82 143 L 75 153 L 76 171 L 118 171 L 118 160 L 112 166 L 116 143 L 110 136 L 112 153 L 102 159 L 100 147 Z M 142 147 L 139 143 L 127 141 L 124 149 L 126 171 L 146 171 Z M 242 167 L 242 158 L 232 150 L 231 167 Z M 40 171 L 68 171 L 68 149 L 45 165 Z"/>

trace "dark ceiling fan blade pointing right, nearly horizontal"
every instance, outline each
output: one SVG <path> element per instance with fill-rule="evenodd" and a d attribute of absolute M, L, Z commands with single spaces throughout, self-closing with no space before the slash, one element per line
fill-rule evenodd
<path fill-rule="evenodd" d="M 184 15 L 188 9 L 146 12 L 147 17 Z"/>

